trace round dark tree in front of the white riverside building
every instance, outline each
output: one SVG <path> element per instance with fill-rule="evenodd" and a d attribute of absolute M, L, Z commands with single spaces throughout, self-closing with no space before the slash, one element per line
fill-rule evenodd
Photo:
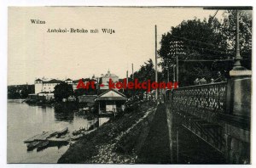
<path fill-rule="evenodd" d="M 72 85 L 62 81 L 60 84 L 55 86 L 54 94 L 55 100 L 61 102 L 63 98 L 68 98 L 73 95 L 73 87 Z"/>

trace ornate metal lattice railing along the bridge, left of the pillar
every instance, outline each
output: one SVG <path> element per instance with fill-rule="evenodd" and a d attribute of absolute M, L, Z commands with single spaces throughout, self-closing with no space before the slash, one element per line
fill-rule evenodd
<path fill-rule="evenodd" d="M 166 93 L 174 111 L 183 111 L 209 122 L 214 122 L 218 114 L 226 113 L 227 82 L 180 87 Z"/>

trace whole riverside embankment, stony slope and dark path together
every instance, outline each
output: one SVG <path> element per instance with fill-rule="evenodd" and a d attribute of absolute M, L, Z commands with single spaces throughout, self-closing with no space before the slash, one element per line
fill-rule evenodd
<path fill-rule="evenodd" d="M 97 164 L 223 164 L 224 160 L 173 118 L 167 123 L 166 104 L 139 104 L 100 126 L 61 156 L 58 163 Z M 172 124 L 172 154 L 168 125 Z M 177 156 L 179 160 L 177 160 Z"/>

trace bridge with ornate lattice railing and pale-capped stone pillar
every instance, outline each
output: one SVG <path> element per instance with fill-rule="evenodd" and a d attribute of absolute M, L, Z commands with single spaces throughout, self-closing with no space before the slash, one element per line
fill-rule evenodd
<path fill-rule="evenodd" d="M 183 126 L 222 154 L 225 163 L 250 163 L 250 73 L 250 70 L 231 70 L 227 82 L 166 91 L 172 159 L 173 143 L 177 143 L 178 151 L 178 129 Z"/>

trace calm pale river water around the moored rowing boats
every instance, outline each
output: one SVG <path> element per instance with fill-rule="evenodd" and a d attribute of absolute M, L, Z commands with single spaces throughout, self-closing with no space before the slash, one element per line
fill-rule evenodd
<path fill-rule="evenodd" d="M 92 121 L 70 111 L 57 112 L 51 107 L 32 106 L 17 100 L 8 101 L 7 114 L 7 162 L 8 163 L 56 163 L 69 145 L 45 148 L 37 152 L 26 150 L 24 140 L 45 131 L 69 132 L 89 127 Z"/>

